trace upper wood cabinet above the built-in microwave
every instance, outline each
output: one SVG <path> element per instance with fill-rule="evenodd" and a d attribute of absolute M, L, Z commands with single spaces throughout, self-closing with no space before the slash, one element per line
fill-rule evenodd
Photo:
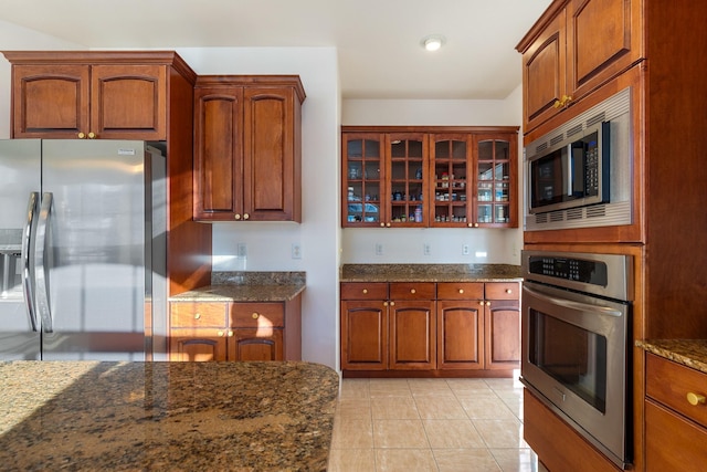
<path fill-rule="evenodd" d="M 556 1 L 517 45 L 524 133 L 645 56 L 642 0 Z"/>

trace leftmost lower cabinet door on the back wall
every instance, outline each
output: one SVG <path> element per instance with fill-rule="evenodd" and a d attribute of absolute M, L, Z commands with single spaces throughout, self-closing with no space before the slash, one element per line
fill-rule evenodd
<path fill-rule="evenodd" d="M 341 369 L 388 367 L 388 310 L 383 301 L 341 302 Z"/>

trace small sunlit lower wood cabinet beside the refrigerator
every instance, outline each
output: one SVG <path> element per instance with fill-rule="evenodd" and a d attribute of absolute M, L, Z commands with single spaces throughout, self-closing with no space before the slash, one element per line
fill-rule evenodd
<path fill-rule="evenodd" d="M 170 360 L 299 360 L 300 300 L 172 302 Z"/>

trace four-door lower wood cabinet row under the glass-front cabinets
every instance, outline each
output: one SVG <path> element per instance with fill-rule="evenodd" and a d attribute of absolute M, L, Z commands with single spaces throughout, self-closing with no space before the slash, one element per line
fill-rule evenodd
<path fill-rule="evenodd" d="M 345 375 L 511 371 L 520 365 L 519 283 L 344 282 L 340 327 Z"/>

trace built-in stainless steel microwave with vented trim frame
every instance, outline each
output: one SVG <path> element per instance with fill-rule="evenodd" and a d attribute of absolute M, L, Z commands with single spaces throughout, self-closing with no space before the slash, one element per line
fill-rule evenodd
<path fill-rule="evenodd" d="M 632 222 L 631 90 L 525 147 L 526 231 Z"/>

